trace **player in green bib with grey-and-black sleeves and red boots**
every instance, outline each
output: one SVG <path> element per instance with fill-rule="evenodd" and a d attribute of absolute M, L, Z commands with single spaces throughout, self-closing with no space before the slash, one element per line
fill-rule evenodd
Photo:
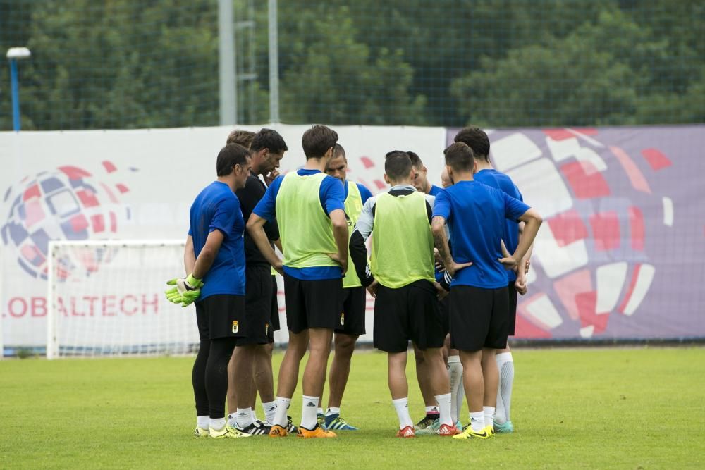
<path fill-rule="evenodd" d="M 409 155 L 392 151 L 384 162 L 391 189 L 367 200 L 350 237 L 350 253 L 362 285 L 375 297 L 374 347 L 387 352 L 388 382 L 399 418 L 400 438 L 414 437 L 408 409 L 407 348 L 412 341 L 424 354 L 439 404 L 439 435 L 458 431 L 450 417 L 450 382 L 441 347 L 441 324 L 434 278 L 431 214 L 434 197 L 412 186 Z M 374 232 L 367 266 L 365 240 Z"/>

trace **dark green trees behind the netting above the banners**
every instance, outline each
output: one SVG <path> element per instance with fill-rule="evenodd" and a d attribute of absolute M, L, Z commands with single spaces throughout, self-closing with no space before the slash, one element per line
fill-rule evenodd
<path fill-rule="evenodd" d="M 253 97 L 240 106 L 262 123 L 266 2 L 233 3 L 236 12 L 255 6 L 253 54 L 240 62 L 257 76 L 240 82 Z M 20 64 L 23 128 L 216 125 L 217 26 L 214 0 L 0 0 L 0 49 L 32 49 Z M 280 1 L 281 118 L 493 127 L 703 122 L 704 31 L 698 0 Z M 3 130 L 11 128 L 6 78 Z"/>

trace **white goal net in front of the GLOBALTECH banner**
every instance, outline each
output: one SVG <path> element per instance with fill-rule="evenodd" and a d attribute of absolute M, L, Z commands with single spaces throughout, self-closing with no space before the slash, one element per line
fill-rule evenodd
<path fill-rule="evenodd" d="M 186 354 L 195 307 L 164 297 L 183 268 L 183 241 L 49 243 L 47 358 Z"/>

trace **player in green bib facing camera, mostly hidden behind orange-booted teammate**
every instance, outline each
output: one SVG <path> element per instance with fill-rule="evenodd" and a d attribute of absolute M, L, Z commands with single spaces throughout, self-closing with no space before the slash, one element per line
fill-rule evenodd
<path fill-rule="evenodd" d="M 333 158 L 326 166 L 326 173 L 333 178 L 341 180 L 345 188 L 345 214 L 348 216 L 348 230 L 352 235 L 357 218 L 362 212 L 362 205 L 372 197 L 367 187 L 360 183 L 348 181 L 348 159 L 345 149 L 341 144 L 336 144 Z M 352 266 L 352 259 L 348 256 L 348 266 Z M 341 417 L 341 402 L 345 385 L 350 376 L 350 361 L 355 350 L 355 342 L 360 335 L 364 335 L 364 311 L 366 292 L 355 269 L 348 269 L 343 278 L 343 308 L 338 316 L 334 344 L 335 354 L 331 362 L 331 372 L 328 379 L 329 396 L 328 409 L 324 416 L 323 409 L 319 408 L 319 424 L 333 431 L 357 431 L 355 426 Z"/>

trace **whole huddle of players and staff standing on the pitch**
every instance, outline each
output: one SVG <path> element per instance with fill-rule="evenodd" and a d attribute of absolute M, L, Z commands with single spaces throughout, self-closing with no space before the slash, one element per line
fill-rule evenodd
<path fill-rule="evenodd" d="M 443 190 L 429 183 L 415 153 L 389 152 L 384 180 L 391 188 L 376 196 L 346 179 L 334 130 L 314 125 L 302 147 L 304 166 L 278 175 L 288 150 L 278 132 L 231 132 L 216 160 L 217 180 L 191 206 L 187 276 L 168 281 L 174 287 L 166 297 L 195 302 L 195 435 L 334 438 L 335 431 L 356 431 L 341 416 L 341 402 L 355 342 L 365 333 L 366 290 L 375 299 L 374 347 L 388 357 L 398 437 L 513 431 L 507 338 L 541 218 L 510 178 L 491 168 L 487 135 L 478 128 L 458 133 L 445 150 Z M 284 278 L 289 330 L 276 395 L 275 271 Z M 427 407 L 416 426 L 405 373 L 410 341 Z M 287 412 L 307 351 L 302 418 L 294 426 Z M 264 421 L 255 414 L 257 392 Z M 470 409 L 465 428 L 463 392 Z"/>

